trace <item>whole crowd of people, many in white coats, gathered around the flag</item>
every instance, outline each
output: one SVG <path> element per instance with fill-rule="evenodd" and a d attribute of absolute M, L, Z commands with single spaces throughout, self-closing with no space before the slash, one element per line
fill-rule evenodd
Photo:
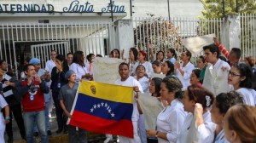
<path fill-rule="evenodd" d="M 192 54 L 184 50 L 179 57 L 175 49 L 158 51 L 153 47 L 146 51 L 131 48 L 129 60 L 119 65 L 119 79 L 114 84 L 134 89 L 132 112 L 133 138 L 119 136 L 121 143 L 212 143 L 256 142 L 256 91 L 255 60 L 241 60 L 241 50 L 228 52 L 214 38 L 203 47 L 204 55 L 196 64 Z M 221 56 L 221 53 L 224 56 Z M 33 57 L 27 61 L 20 79 L 6 72 L 7 62 L 0 60 L 0 143 L 4 132 L 8 142 L 13 142 L 12 116 L 20 129 L 20 135 L 28 143 L 40 135 L 47 143 L 49 128 L 49 104 L 54 100 L 58 129 L 56 134 L 68 134 L 69 142 L 87 142 L 84 129 L 67 125 L 75 94 L 81 80 L 93 81 L 92 62 L 100 54 L 83 51 L 66 56 L 50 53 L 45 69 L 41 61 Z M 124 51 L 111 51 L 111 58 L 124 59 Z M 149 58 L 148 58 L 149 56 Z M 67 58 L 66 58 L 67 57 Z M 85 59 L 87 60 L 85 62 Z M 164 78 L 154 77 L 164 75 Z M 163 111 L 156 119 L 155 129 L 145 129 L 145 117 L 140 109 L 138 92 L 157 98 Z M 6 127 L 5 127 L 6 126 Z M 78 132 L 78 134 L 76 134 Z M 112 140 L 106 134 L 107 143 Z"/>

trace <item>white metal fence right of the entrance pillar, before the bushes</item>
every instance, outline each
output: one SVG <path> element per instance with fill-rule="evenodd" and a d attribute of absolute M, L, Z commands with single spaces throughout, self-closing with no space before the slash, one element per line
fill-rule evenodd
<path fill-rule="evenodd" d="M 251 55 L 256 58 L 256 14 L 241 14 L 242 58 Z M 148 43 L 154 45 L 154 52 L 174 48 L 177 53 L 183 50 L 182 39 L 215 33 L 220 40 L 225 32 L 224 18 L 200 20 L 195 17 L 134 18 L 135 45 L 148 50 Z M 228 48 L 230 49 L 230 48 Z"/>

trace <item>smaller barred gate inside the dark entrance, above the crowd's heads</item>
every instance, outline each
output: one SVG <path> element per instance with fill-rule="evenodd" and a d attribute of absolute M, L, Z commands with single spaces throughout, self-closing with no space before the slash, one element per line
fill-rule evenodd
<path fill-rule="evenodd" d="M 66 56 L 71 52 L 69 42 L 57 42 L 57 43 L 42 43 L 31 45 L 32 57 L 37 57 L 41 60 L 41 67 L 44 68 L 46 61 L 50 58 L 50 51 L 55 50 L 57 54 Z"/>

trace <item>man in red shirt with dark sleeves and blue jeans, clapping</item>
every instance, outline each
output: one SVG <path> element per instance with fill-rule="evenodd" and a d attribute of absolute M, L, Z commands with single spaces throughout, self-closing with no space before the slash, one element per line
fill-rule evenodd
<path fill-rule="evenodd" d="M 48 136 L 45 129 L 44 116 L 44 94 L 49 93 L 44 80 L 36 74 L 35 66 L 25 66 L 26 79 L 16 83 L 17 92 L 22 96 L 23 119 L 26 129 L 27 143 L 33 142 L 34 121 L 37 123 L 42 143 L 48 143 Z"/>

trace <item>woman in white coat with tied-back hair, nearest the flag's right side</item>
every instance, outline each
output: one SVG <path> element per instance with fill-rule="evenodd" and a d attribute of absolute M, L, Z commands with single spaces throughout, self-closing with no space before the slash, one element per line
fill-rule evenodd
<path fill-rule="evenodd" d="M 168 105 L 160 112 L 156 120 L 156 130 L 147 130 L 148 137 L 157 137 L 159 143 L 176 142 L 187 115 L 184 112 L 182 83 L 175 76 L 165 77 L 160 85 L 161 100 Z"/>

